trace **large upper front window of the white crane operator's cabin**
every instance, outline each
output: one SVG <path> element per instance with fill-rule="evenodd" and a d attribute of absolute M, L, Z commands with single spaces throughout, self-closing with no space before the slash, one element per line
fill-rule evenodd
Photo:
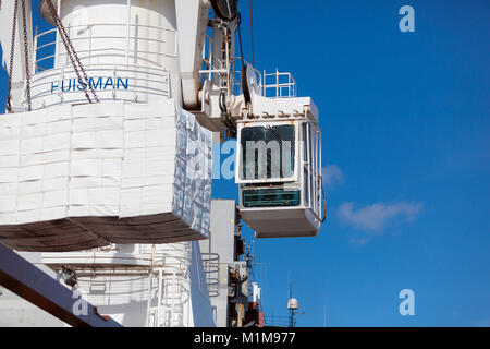
<path fill-rule="evenodd" d="M 292 124 L 245 128 L 241 133 L 242 180 L 287 179 L 294 174 Z"/>

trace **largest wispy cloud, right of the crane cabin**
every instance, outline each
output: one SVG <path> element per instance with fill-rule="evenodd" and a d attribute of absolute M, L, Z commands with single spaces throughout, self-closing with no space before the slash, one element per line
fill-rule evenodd
<path fill-rule="evenodd" d="M 380 233 L 387 225 L 395 219 L 414 220 L 422 209 L 422 203 L 378 203 L 358 209 L 354 208 L 354 203 L 345 203 L 339 207 L 339 218 L 351 227 Z"/>

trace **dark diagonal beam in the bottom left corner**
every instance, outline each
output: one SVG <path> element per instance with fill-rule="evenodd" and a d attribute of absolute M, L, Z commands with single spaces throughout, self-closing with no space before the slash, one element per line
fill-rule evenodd
<path fill-rule="evenodd" d="M 74 327 L 120 327 L 110 317 L 100 316 L 87 303 L 86 315 L 73 309 L 79 298 L 71 290 L 0 243 L 0 285 Z"/>

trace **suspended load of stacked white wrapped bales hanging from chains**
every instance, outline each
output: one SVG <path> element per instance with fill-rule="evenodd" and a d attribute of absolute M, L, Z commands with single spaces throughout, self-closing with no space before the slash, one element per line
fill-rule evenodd
<path fill-rule="evenodd" d="M 58 219 L 75 219 L 74 227 L 85 228 L 77 234 L 95 232 L 106 244 L 176 242 L 179 236 L 188 241 L 209 234 L 211 133 L 173 99 L 65 105 L 8 115 L 0 130 L 0 191 L 9 197 L 0 203 L 0 240 L 4 233 L 15 238 L 11 228 L 16 225 L 39 224 L 29 229 L 44 229 L 45 222 Z M 170 216 L 137 218 L 152 215 Z M 114 217 L 138 221 L 124 227 Z M 27 246 L 22 243 L 25 232 L 19 232 L 15 243 L 5 243 Z M 61 240 L 38 238 L 37 245 L 59 245 L 66 239 L 64 251 L 76 250 L 64 232 L 54 228 L 46 239 L 57 233 Z M 39 245 L 41 241 L 47 244 Z"/>

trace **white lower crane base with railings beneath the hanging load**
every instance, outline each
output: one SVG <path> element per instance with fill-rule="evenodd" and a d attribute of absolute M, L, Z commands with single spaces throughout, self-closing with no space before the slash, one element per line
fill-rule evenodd
<path fill-rule="evenodd" d="M 42 253 L 41 262 L 76 270 L 79 296 L 123 326 L 215 326 L 196 241 Z"/>

